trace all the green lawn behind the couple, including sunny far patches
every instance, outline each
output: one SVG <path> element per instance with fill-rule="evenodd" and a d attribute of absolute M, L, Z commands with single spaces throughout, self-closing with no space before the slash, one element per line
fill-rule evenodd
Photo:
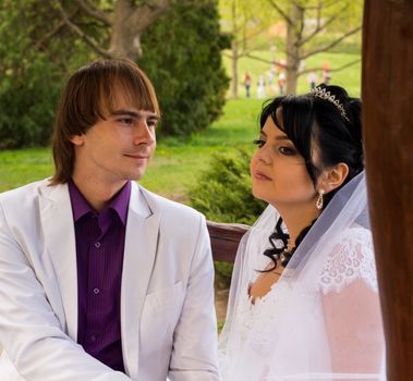
<path fill-rule="evenodd" d="M 260 52 L 259 56 L 271 59 L 272 53 Z M 330 67 L 335 69 L 356 59 L 356 54 L 324 53 L 308 59 L 306 65 L 320 66 L 326 60 Z M 228 66 L 229 60 L 226 59 L 224 63 Z M 256 79 L 260 73 L 269 70 L 269 65 L 242 59 L 240 76 L 245 70 Z M 360 96 L 360 64 L 350 66 L 332 73 L 331 83 L 343 85 L 351 95 Z M 305 93 L 306 87 L 306 78 L 301 78 L 297 93 Z M 240 96 L 243 95 L 240 85 Z M 141 183 L 153 192 L 185 202 L 189 187 L 196 183 L 199 172 L 208 167 L 212 153 L 226 152 L 235 147 L 251 147 L 253 150 L 251 142 L 257 136 L 257 116 L 262 105 L 263 100 L 254 98 L 229 100 L 224 106 L 223 115 L 206 131 L 185 139 L 163 138 L 158 143 L 154 160 Z M 52 171 L 50 148 L 0 151 L 0 192 L 45 179 L 50 176 Z"/>

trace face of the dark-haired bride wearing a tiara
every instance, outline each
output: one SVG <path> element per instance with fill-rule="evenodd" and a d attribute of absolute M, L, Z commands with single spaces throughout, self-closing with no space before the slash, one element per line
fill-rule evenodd
<path fill-rule="evenodd" d="M 281 109 L 277 119 L 282 123 Z M 304 158 L 268 116 L 260 131 L 258 149 L 251 160 L 253 194 L 278 209 L 315 205 L 316 189 Z"/>

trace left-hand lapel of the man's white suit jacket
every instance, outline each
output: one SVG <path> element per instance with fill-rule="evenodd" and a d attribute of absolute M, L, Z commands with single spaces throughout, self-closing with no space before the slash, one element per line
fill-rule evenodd
<path fill-rule="evenodd" d="M 54 266 L 69 336 L 77 339 L 76 244 L 68 184 L 45 186 L 40 219 L 45 242 Z"/>

